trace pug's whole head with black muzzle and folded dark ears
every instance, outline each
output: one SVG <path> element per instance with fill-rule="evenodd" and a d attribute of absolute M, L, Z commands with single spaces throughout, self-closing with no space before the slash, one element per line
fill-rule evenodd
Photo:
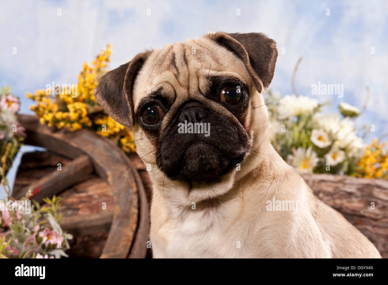
<path fill-rule="evenodd" d="M 138 154 L 154 169 L 172 181 L 215 183 L 265 136 L 267 111 L 256 107 L 276 58 L 263 34 L 209 33 L 138 54 L 102 77 L 95 98 L 133 128 Z"/>

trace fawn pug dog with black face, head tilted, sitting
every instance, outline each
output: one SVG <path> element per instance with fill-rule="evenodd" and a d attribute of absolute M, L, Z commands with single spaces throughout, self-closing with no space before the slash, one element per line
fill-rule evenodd
<path fill-rule="evenodd" d="M 268 138 L 276 43 L 208 33 L 102 77 L 97 102 L 151 166 L 154 257 L 381 257 L 317 199 Z"/>

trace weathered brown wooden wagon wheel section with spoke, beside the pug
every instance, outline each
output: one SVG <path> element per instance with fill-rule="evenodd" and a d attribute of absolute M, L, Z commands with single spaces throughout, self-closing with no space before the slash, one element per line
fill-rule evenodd
<path fill-rule="evenodd" d="M 114 214 L 111 229 L 100 258 L 144 258 L 149 234 L 149 207 L 139 173 L 128 156 L 109 139 L 83 129 L 71 133 L 54 130 L 39 123 L 38 118 L 19 115 L 26 128 L 25 143 L 44 147 L 73 161 L 61 171 L 54 171 L 30 187 L 38 202 L 60 193 L 95 171 L 113 191 Z M 22 197 L 29 187 L 14 194 Z"/>

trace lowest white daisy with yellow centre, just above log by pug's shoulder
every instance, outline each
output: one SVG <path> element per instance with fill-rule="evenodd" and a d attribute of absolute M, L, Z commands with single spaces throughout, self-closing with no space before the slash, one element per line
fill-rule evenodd
<path fill-rule="evenodd" d="M 308 147 L 307 149 L 298 147 L 293 155 L 288 155 L 287 162 L 301 173 L 312 173 L 315 166 L 317 166 L 319 159 L 314 150 L 312 150 L 312 147 Z"/>

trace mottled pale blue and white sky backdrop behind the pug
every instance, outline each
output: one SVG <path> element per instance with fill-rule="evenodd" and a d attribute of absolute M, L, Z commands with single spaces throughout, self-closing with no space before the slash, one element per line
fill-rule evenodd
<path fill-rule="evenodd" d="M 31 114 L 26 91 L 45 88 L 52 81 L 76 83 L 82 63 L 91 62 L 107 43 L 112 44 L 109 67 L 114 69 L 145 48 L 161 48 L 207 31 L 262 32 L 277 42 L 279 50 L 270 89 L 282 96 L 291 94 L 291 74 L 303 57 L 295 79 L 299 94 L 320 102 L 331 100 L 327 112 L 338 112 L 340 102 L 362 109 L 369 86 L 371 98 L 357 125 L 376 126 L 367 141 L 388 131 L 386 0 L 2 0 L 1 7 L 0 86 L 10 85 L 21 98 L 21 113 Z M 311 95 L 311 85 L 318 81 L 343 84 L 343 98 Z"/>

